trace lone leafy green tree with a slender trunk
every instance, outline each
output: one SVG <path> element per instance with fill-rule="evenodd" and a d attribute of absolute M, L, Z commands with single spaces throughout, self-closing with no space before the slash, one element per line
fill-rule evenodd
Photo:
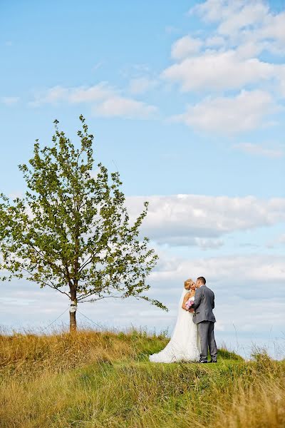
<path fill-rule="evenodd" d="M 51 287 L 71 300 L 70 330 L 76 330 L 78 302 L 105 297 L 136 297 L 164 310 L 143 293 L 147 275 L 157 263 L 148 239 L 140 240 L 142 213 L 130 225 L 119 173 L 93 170 L 93 136 L 80 117 L 81 147 L 75 148 L 63 131 L 52 145 L 34 145 L 29 165 L 19 165 L 27 190 L 10 201 L 1 194 L 2 280 L 23 278 Z M 94 176 L 95 175 L 95 176 Z"/>

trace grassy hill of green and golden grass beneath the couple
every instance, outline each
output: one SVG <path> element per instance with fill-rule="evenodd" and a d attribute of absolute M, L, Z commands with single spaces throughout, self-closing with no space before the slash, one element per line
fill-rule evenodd
<path fill-rule="evenodd" d="M 148 362 L 163 335 L 0 335 L 0 427 L 285 427 L 285 362 Z"/>

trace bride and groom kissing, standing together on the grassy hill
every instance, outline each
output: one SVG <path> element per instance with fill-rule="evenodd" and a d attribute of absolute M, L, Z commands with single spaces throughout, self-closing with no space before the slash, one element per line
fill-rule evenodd
<path fill-rule="evenodd" d="M 205 278 L 186 280 L 170 342 L 162 351 L 150 355 L 150 361 L 207 363 L 209 349 L 210 362 L 217 362 L 213 309 L 214 292 L 207 287 Z"/>

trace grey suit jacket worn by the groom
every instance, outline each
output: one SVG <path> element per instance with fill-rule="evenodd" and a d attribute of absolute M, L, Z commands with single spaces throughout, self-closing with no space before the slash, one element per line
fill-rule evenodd
<path fill-rule="evenodd" d="M 206 285 L 197 288 L 192 308 L 195 309 L 195 313 L 193 314 L 193 322 L 195 324 L 199 324 L 202 321 L 216 322 L 213 314 L 214 293 Z"/>

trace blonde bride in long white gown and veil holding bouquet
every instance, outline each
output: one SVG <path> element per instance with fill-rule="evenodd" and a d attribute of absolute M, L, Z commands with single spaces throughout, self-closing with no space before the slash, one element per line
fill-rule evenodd
<path fill-rule="evenodd" d="M 186 310 L 185 303 L 189 298 L 194 300 L 195 282 L 191 279 L 184 283 L 180 297 L 178 315 L 170 342 L 157 354 L 150 355 L 151 362 L 199 361 L 199 337 L 197 325 L 192 321 L 193 314 Z"/>

